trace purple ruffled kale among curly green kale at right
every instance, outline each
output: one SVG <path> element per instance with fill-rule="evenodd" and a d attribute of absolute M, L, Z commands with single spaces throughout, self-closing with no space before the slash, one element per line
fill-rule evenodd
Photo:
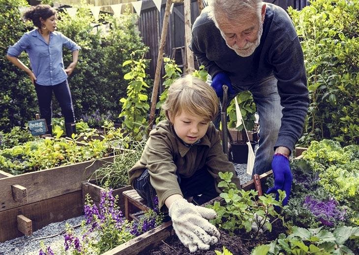
<path fill-rule="evenodd" d="M 323 225 L 333 227 L 338 221 L 344 221 L 346 210 L 339 209 L 339 203 L 333 198 L 317 200 L 310 195 L 306 196 L 303 205 L 315 215 Z"/>

